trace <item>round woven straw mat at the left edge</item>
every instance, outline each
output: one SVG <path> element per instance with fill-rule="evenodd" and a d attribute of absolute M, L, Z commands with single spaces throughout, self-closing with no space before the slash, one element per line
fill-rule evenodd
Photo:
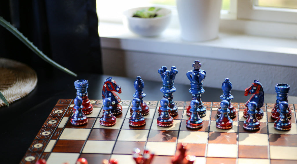
<path fill-rule="evenodd" d="M 0 90 L 9 104 L 28 95 L 37 85 L 37 74 L 29 66 L 0 58 Z M 0 107 L 5 103 L 0 100 Z"/>

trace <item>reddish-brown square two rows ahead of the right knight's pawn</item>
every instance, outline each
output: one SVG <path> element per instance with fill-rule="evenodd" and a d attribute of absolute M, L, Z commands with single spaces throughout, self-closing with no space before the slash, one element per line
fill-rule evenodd
<path fill-rule="evenodd" d="M 238 145 L 239 158 L 268 158 L 267 146 Z"/>

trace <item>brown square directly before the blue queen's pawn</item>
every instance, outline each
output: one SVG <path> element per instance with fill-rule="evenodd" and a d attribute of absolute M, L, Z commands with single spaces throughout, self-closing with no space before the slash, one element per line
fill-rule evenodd
<path fill-rule="evenodd" d="M 147 141 L 176 142 L 178 131 L 174 130 L 151 130 Z"/>

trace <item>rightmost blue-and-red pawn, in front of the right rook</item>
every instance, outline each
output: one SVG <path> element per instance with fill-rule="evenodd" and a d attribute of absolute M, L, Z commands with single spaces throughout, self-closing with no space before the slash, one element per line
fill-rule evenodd
<path fill-rule="evenodd" d="M 274 121 L 274 128 L 280 131 L 287 131 L 291 129 L 291 121 L 288 119 L 287 114 L 289 104 L 287 101 L 282 101 L 279 103 L 279 118 Z"/>

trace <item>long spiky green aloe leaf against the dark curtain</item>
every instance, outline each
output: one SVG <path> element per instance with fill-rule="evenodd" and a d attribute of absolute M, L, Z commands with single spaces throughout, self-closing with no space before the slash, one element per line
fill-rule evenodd
<path fill-rule="evenodd" d="M 13 35 L 15 35 L 21 42 L 23 42 L 29 49 L 31 49 L 35 54 L 37 54 L 40 58 L 45 60 L 46 62 L 50 63 L 51 65 L 55 66 L 56 68 L 64 71 L 72 76 L 77 77 L 77 74 L 70 71 L 69 69 L 61 66 L 60 64 L 56 63 L 52 59 L 50 59 L 47 55 L 45 55 L 42 51 L 40 51 L 32 42 L 28 40 L 17 28 L 12 26 L 9 22 L 7 22 L 3 17 L 0 17 L 0 25 L 10 31 Z M 2 99 L 2 98 L 1 98 Z"/>

